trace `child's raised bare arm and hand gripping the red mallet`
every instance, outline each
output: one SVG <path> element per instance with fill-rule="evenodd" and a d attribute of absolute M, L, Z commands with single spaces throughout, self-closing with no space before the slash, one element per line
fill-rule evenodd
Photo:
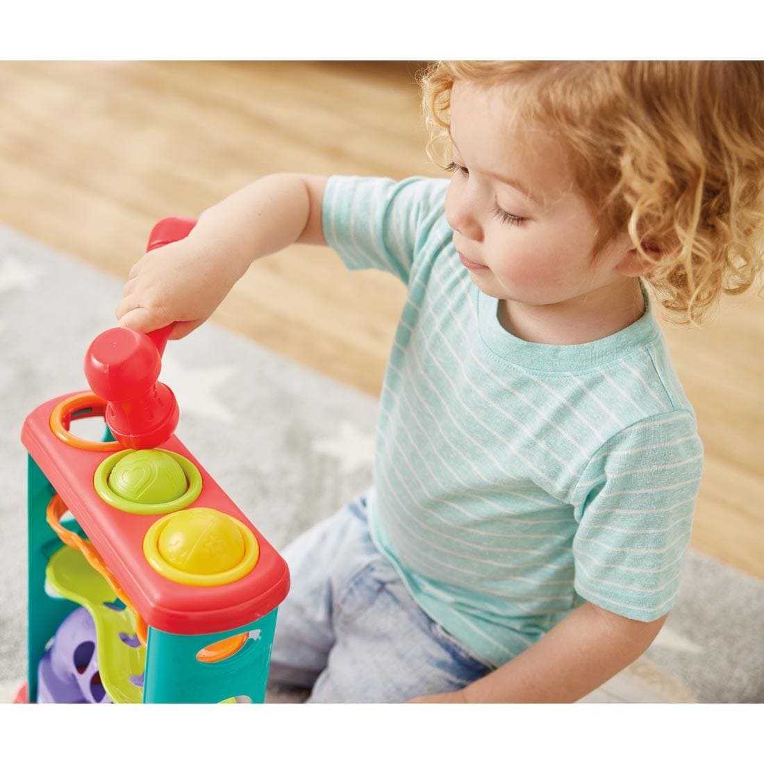
<path fill-rule="evenodd" d="M 115 315 L 121 325 L 151 332 L 179 322 L 180 338 L 212 315 L 257 257 L 295 242 L 325 244 L 326 178 L 268 175 L 199 215 L 182 241 L 148 252 L 133 267 Z"/>

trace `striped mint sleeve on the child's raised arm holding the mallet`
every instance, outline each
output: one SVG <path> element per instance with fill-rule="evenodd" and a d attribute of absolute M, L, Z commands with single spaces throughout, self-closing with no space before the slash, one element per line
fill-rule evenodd
<path fill-rule="evenodd" d="M 403 283 L 433 225 L 443 222 L 447 180 L 331 176 L 326 183 L 324 237 L 351 270 L 377 268 Z"/>

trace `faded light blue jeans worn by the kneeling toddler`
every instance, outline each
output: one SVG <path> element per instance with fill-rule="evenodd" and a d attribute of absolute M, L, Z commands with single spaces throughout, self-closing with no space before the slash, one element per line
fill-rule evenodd
<path fill-rule="evenodd" d="M 398 703 L 462 688 L 490 671 L 413 601 L 377 552 L 361 497 L 282 552 L 270 681 L 313 703 Z"/>

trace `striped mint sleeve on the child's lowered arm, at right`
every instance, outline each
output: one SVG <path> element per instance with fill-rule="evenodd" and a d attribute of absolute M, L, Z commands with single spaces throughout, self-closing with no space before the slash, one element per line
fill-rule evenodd
<path fill-rule="evenodd" d="M 623 429 L 575 490 L 575 591 L 605 610 L 656 620 L 675 602 L 701 482 L 703 444 L 688 411 Z"/>

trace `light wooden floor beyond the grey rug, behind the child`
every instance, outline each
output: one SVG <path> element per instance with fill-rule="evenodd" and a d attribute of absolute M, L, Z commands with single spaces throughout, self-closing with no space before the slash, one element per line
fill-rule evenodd
<path fill-rule="evenodd" d="M 264 173 L 442 175 L 413 63 L 0 62 L 0 220 L 119 277 L 167 215 Z M 325 248 L 258 261 L 222 325 L 367 393 L 403 287 Z M 706 468 L 692 545 L 764 577 L 764 299 L 701 330 L 667 325 Z"/>

